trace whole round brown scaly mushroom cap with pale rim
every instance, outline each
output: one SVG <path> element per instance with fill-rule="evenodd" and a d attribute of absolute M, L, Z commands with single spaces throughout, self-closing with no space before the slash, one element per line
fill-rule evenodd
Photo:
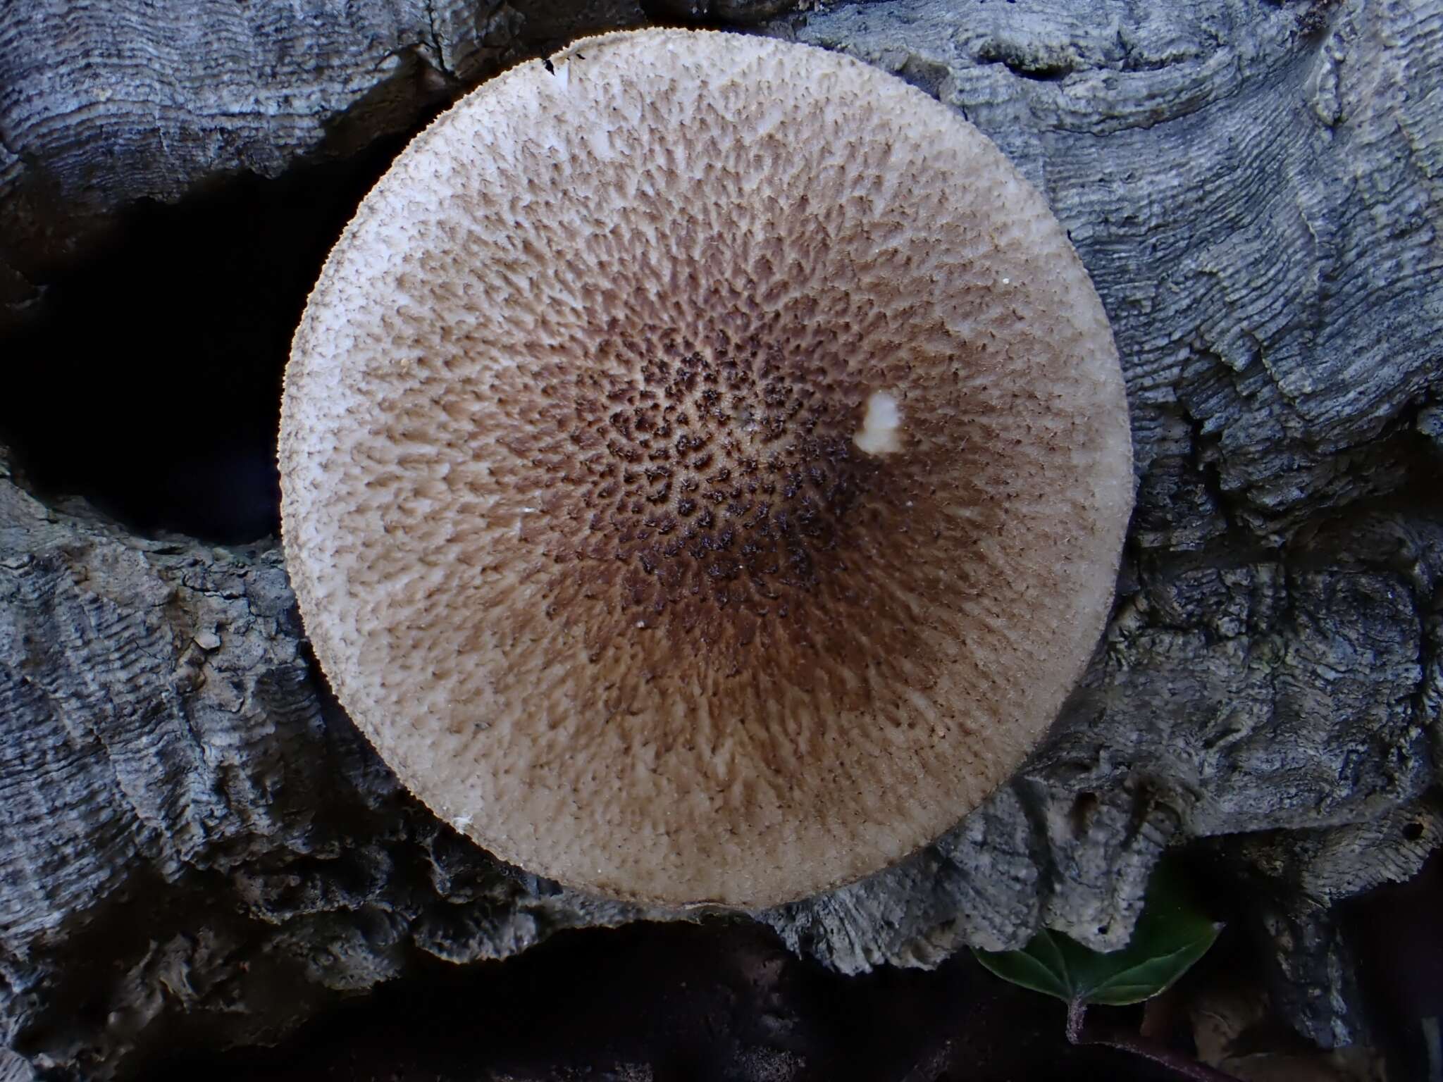
<path fill-rule="evenodd" d="M 644 30 L 512 68 L 296 333 L 284 541 L 341 703 L 496 856 L 765 906 L 952 827 L 1055 717 L 1131 505 L 1063 229 L 857 61 Z"/>

